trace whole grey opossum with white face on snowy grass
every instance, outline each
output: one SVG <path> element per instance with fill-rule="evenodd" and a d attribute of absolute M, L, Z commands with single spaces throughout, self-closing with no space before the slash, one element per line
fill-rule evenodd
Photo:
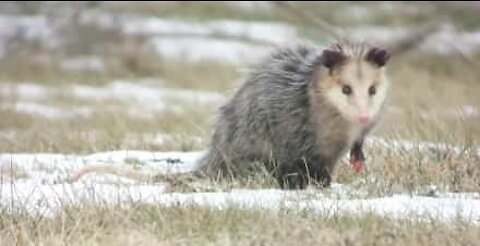
<path fill-rule="evenodd" d="M 387 98 L 389 57 L 382 48 L 348 41 L 323 50 L 277 48 L 220 108 L 208 152 L 188 175 L 231 179 L 264 163 L 281 188 L 326 187 L 347 150 L 360 172 L 364 138 Z M 73 181 L 90 171 L 96 170 L 81 170 Z"/>

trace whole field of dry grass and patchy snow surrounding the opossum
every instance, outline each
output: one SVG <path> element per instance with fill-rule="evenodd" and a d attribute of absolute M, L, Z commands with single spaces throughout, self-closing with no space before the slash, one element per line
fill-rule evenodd
<path fill-rule="evenodd" d="M 55 5 L 56 4 L 56 5 Z M 332 39 L 269 2 L 0 4 L 0 245 L 476 245 L 478 3 L 297 3 L 394 54 L 367 169 L 282 191 L 268 173 L 167 187 L 82 167 L 191 170 L 216 112 L 273 46 Z M 349 13 L 345 18 L 343 13 Z"/>

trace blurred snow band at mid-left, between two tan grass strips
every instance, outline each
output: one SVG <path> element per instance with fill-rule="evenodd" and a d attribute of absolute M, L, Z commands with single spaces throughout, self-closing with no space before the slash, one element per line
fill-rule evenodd
<path fill-rule="evenodd" d="M 63 95 L 97 102 L 114 100 L 125 104 L 126 107 L 122 110 L 133 117 L 150 117 L 159 111 L 182 112 L 184 107 L 181 103 L 220 105 L 225 101 L 225 97 L 220 93 L 163 88 L 158 86 L 158 83 L 159 81 L 150 80 L 117 80 L 105 86 L 74 84 L 65 88 L 30 83 L 3 83 L 0 84 L 0 96 L 11 101 L 2 102 L 0 108 L 53 119 L 88 117 L 94 112 L 94 107 L 86 105 L 65 108 L 48 104 L 50 98 Z"/>

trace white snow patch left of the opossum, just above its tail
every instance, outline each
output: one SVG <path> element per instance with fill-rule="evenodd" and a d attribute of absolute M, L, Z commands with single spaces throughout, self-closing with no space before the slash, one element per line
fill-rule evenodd
<path fill-rule="evenodd" d="M 28 171 L 29 177 L 38 184 L 53 184 L 67 180 L 74 171 L 90 165 L 130 165 L 139 163 L 153 173 L 186 172 L 194 168 L 203 152 L 147 152 L 118 150 L 91 155 L 61 154 L 0 154 L 0 168 L 11 164 Z M 181 165 L 180 165 L 181 164 Z M 128 168 L 128 166 L 125 166 Z"/>

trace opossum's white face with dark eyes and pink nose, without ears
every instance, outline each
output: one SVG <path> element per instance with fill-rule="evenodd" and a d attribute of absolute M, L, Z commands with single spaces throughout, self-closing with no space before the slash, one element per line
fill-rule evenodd
<path fill-rule="evenodd" d="M 346 57 L 341 64 L 325 71 L 321 87 L 326 100 L 347 120 L 368 124 L 379 113 L 388 90 L 384 57 L 378 65 L 363 57 Z"/>

